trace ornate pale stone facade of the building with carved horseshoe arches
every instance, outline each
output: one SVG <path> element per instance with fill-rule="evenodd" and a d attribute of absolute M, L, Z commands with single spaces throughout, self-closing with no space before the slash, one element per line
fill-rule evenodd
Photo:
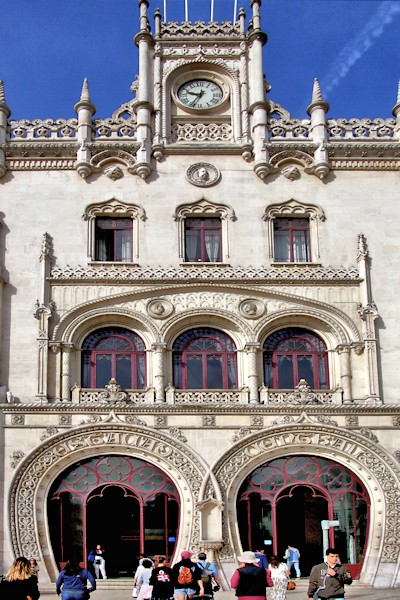
<path fill-rule="evenodd" d="M 310 118 L 291 118 L 262 75 L 260 0 L 247 30 L 242 11 L 233 25 L 157 11 L 150 28 L 139 4 L 134 98 L 109 119 L 94 119 L 85 80 L 77 119 L 13 121 L 0 84 L 3 568 L 34 556 L 50 585 L 52 485 L 83 460 L 129 456 L 178 490 L 175 556 L 205 549 L 228 588 L 246 549 L 243 482 L 318 456 L 368 497 L 361 581 L 398 587 L 400 98 L 393 119 L 331 120 L 315 81 Z M 193 77 L 220 86 L 220 103 L 197 111 L 193 91 L 185 109 Z M 126 255 L 104 258 L 99 221 L 119 219 Z M 306 259 L 282 260 L 285 220 L 307 223 Z M 193 222 L 218 235 L 189 260 Z M 319 387 L 268 379 L 266 343 L 287 328 L 323 345 Z M 114 374 L 96 387 L 85 342 L 109 329 L 143 346 L 137 387 Z M 180 380 L 177 341 L 193 330 L 229 339 L 234 383 Z"/>

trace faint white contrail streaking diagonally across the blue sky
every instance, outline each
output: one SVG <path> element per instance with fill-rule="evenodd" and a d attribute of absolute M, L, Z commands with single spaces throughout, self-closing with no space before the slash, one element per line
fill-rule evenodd
<path fill-rule="evenodd" d="M 381 37 L 385 27 L 390 25 L 396 15 L 400 15 L 399 0 L 384 0 L 379 5 L 360 33 L 338 54 L 327 75 L 321 81 L 325 96 L 340 83 L 354 64 Z"/>

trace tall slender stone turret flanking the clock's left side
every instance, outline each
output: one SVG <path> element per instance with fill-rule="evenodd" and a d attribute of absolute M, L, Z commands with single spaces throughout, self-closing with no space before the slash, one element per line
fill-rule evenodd
<path fill-rule="evenodd" d="M 140 31 L 135 36 L 135 44 L 139 48 L 139 88 L 137 92 L 138 102 L 136 103 L 136 136 L 140 143 L 140 147 L 136 153 L 136 173 L 142 179 L 146 179 L 151 173 L 150 159 L 152 145 L 151 116 L 153 113 L 153 104 L 151 90 L 153 81 L 153 62 L 151 49 L 154 41 L 150 33 L 150 26 L 147 18 L 148 6 L 149 3 L 147 0 L 139 0 Z"/>

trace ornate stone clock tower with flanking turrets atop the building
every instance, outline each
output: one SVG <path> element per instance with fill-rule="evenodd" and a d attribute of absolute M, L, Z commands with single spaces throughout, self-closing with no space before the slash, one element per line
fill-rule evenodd
<path fill-rule="evenodd" d="M 153 158 L 168 155 L 241 155 L 264 179 L 270 171 L 262 48 L 261 0 L 252 0 L 246 28 L 235 23 L 163 22 L 156 10 L 154 35 L 147 0 L 140 0 L 137 172 L 150 174 Z"/>

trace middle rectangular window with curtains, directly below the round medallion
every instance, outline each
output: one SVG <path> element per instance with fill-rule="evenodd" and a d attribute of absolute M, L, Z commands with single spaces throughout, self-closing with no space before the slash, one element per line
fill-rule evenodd
<path fill-rule="evenodd" d="M 221 245 L 221 219 L 186 219 L 185 260 L 187 262 L 221 262 Z"/>

